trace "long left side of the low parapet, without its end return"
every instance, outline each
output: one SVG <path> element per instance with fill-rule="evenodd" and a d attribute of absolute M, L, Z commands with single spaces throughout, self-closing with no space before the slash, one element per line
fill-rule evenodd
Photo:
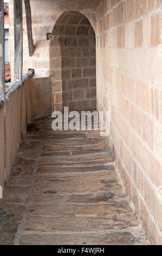
<path fill-rule="evenodd" d="M 9 90 L 6 99 L 5 123 L 4 106 L 0 109 L 0 136 L 2 136 L 0 140 L 0 185 L 3 187 L 9 179 L 11 167 L 16 158 L 17 149 L 20 146 L 22 138 L 25 136 L 27 125 L 31 121 L 30 89 L 28 80 L 23 82 L 23 86 L 18 86 L 17 88 Z M 6 133 L 5 142 L 4 127 Z M 6 162 L 6 164 L 4 162 Z"/>

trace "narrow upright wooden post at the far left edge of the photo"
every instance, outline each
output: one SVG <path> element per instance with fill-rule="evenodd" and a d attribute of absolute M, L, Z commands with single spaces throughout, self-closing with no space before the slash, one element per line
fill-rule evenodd
<path fill-rule="evenodd" d="M 4 68 L 4 0 L 0 0 L 0 96 L 5 100 Z"/>

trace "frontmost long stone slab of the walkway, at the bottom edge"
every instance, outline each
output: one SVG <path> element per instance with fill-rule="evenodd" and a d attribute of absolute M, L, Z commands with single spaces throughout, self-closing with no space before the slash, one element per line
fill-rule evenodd
<path fill-rule="evenodd" d="M 21 245 L 148 245 L 142 232 L 23 235 Z"/>

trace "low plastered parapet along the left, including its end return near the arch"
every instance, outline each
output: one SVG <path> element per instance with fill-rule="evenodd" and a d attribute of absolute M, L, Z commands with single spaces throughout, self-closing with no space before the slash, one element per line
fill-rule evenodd
<path fill-rule="evenodd" d="M 34 80 L 27 78 L 22 86 L 16 84 L 6 94 L 5 122 L 4 103 L 0 101 L 0 185 L 2 187 L 9 180 L 12 164 L 31 118 L 44 117 L 51 113 L 50 88 L 50 78 Z M 6 140 L 4 140 L 4 128 Z"/>

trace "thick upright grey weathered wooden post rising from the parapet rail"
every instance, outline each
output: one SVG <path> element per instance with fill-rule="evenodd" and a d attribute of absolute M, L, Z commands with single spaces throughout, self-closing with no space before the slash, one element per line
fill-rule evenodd
<path fill-rule="evenodd" d="M 14 0 L 14 79 L 22 82 L 23 58 L 23 26 L 22 26 L 22 0 Z"/>

